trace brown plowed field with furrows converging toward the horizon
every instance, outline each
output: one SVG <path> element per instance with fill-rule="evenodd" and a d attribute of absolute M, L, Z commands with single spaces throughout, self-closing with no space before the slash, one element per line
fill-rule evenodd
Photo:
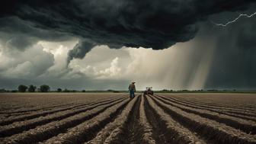
<path fill-rule="evenodd" d="M 255 94 L 1 94 L 1 143 L 256 143 Z"/>

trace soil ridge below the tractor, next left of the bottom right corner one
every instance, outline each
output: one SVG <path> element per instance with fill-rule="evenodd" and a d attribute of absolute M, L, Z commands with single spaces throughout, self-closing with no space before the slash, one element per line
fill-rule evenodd
<path fill-rule="evenodd" d="M 146 97 L 146 114 L 148 114 L 149 122 L 153 126 L 155 140 L 158 144 L 210 143 L 172 119 L 149 96 Z M 155 117 L 158 118 L 155 119 Z"/>

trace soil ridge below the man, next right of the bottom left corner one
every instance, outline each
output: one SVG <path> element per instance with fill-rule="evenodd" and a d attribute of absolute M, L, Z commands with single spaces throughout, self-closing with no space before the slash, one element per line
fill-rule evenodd
<path fill-rule="evenodd" d="M 112 123 L 119 114 L 122 113 L 124 107 L 130 100 L 123 101 L 107 108 L 103 113 L 98 114 L 91 120 L 85 121 L 78 126 L 69 129 L 66 133 L 60 133 L 51 139 L 47 139 L 42 143 L 83 143 L 93 139 L 107 123 Z"/>

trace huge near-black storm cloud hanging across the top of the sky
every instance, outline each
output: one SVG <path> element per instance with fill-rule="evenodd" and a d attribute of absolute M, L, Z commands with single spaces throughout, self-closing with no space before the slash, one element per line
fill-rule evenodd
<path fill-rule="evenodd" d="M 251 2 L 254 0 L 4 0 L 0 15 L 29 21 L 31 27 L 85 38 L 91 45 L 161 50 L 192 39 L 197 21 L 210 14 L 245 10 Z M 91 50 L 86 45 L 72 50 L 69 59 L 85 56 Z"/>

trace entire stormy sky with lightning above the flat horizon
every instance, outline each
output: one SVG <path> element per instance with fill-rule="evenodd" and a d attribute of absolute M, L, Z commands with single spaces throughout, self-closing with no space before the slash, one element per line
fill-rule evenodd
<path fill-rule="evenodd" d="M 253 0 L 3 0 L 0 88 L 256 89 Z"/>

